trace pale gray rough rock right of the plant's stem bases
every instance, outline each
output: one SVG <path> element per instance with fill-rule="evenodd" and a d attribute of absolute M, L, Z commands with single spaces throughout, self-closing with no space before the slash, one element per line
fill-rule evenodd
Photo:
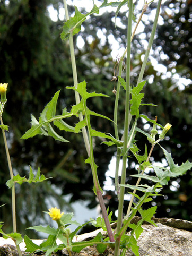
<path fill-rule="evenodd" d="M 139 256 L 192 256 L 192 232 L 158 224 L 142 226 Z M 128 255 L 135 255 L 131 250 Z"/>

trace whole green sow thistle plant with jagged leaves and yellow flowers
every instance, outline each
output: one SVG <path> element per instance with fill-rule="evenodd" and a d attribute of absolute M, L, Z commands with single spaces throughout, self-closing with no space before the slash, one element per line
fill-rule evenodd
<path fill-rule="evenodd" d="M 87 86 L 85 81 L 78 82 L 78 73 L 76 71 L 76 63 L 75 63 L 75 55 L 74 55 L 74 45 L 73 45 L 73 37 L 81 30 L 81 24 L 88 18 L 88 16 L 94 14 L 99 14 L 99 11 L 103 7 L 112 6 L 117 7 L 117 11 L 115 14 L 115 18 L 117 18 L 118 12 L 120 8 L 124 5 L 128 5 L 128 23 L 127 23 L 127 48 L 124 54 L 118 59 L 118 63 L 115 65 L 116 73 L 114 71 L 114 77 L 112 81 L 116 81 L 117 88 L 114 90 L 115 93 L 115 106 L 114 106 L 114 120 L 110 118 L 95 113 L 94 111 L 89 109 L 87 105 L 87 100 L 93 97 L 109 97 L 108 95 L 104 95 L 103 93 L 97 92 L 88 92 L 89 85 Z M 142 10 L 141 16 L 137 21 L 136 27 L 138 27 L 139 22 L 142 20 L 142 15 L 146 12 L 147 6 L 149 3 L 144 4 L 144 8 Z M 81 133 L 83 135 L 85 148 L 88 153 L 88 158 L 85 159 L 85 163 L 89 164 L 92 170 L 93 175 L 93 192 L 98 198 L 101 211 L 102 211 L 102 218 L 99 217 L 97 220 L 90 219 L 88 223 L 92 223 L 95 227 L 101 227 L 103 231 L 106 232 L 106 235 L 103 236 L 101 232 L 97 234 L 92 240 L 90 241 L 81 241 L 75 242 L 75 235 L 77 232 L 86 224 L 79 224 L 77 221 L 73 221 L 72 213 L 64 214 L 60 212 L 60 209 L 50 208 L 49 212 L 46 212 L 53 220 L 57 222 L 58 228 L 53 228 L 50 226 L 42 227 L 42 226 L 34 226 L 29 227 L 29 229 L 33 229 L 35 231 L 40 231 L 48 234 L 48 238 L 46 241 L 43 241 L 40 245 L 34 244 L 30 238 L 25 235 L 24 242 L 27 247 L 28 252 L 38 252 L 38 251 L 45 251 L 46 255 L 49 255 L 53 251 L 62 250 L 66 248 L 69 255 L 72 255 L 72 252 L 80 252 L 84 247 L 91 246 L 97 244 L 97 250 L 99 253 L 103 253 L 106 250 L 107 246 L 110 246 L 114 249 L 114 255 L 125 255 L 126 250 L 131 248 L 132 251 L 136 256 L 139 256 L 139 248 L 137 246 L 137 240 L 139 235 L 141 235 L 143 228 L 142 224 L 143 221 L 148 221 L 151 224 L 155 223 L 151 220 L 153 215 L 156 212 L 157 207 L 151 207 L 149 209 L 144 210 L 143 204 L 146 202 L 150 202 L 153 200 L 153 197 L 160 195 L 160 191 L 163 185 L 167 185 L 170 178 L 175 178 L 179 175 L 183 175 L 192 167 L 192 163 L 186 161 L 186 163 L 182 165 L 175 164 L 171 153 L 160 146 L 161 140 L 164 139 L 165 134 L 171 129 L 171 124 L 166 124 L 164 127 L 158 123 L 157 117 L 153 120 L 147 117 L 146 115 L 141 114 L 140 107 L 143 105 L 150 105 L 155 106 L 151 103 L 142 103 L 144 98 L 144 93 L 141 91 L 145 86 L 146 81 L 143 80 L 144 70 L 147 64 L 147 59 L 149 57 L 150 49 L 153 43 L 153 39 L 155 36 L 156 26 L 158 23 L 158 16 L 160 13 L 160 6 L 161 0 L 158 0 L 158 4 L 156 7 L 156 14 L 155 20 L 153 23 L 153 28 L 151 31 L 151 36 L 149 39 L 149 44 L 147 46 L 147 50 L 145 53 L 144 61 L 141 67 L 141 71 L 138 76 L 137 84 L 130 84 L 130 55 L 131 55 L 131 41 L 134 37 L 134 32 L 132 33 L 132 23 L 135 21 L 134 17 L 134 5 L 132 0 L 129 1 L 119 1 L 119 2 L 110 2 L 108 3 L 107 0 L 104 0 L 103 3 L 98 7 L 93 2 L 93 8 L 89 13 L 82 14 L 78 11 L 77 7 L 75 8 L 75 15 L 72 18 L 69 18 L 66 0 L 64 0 L 64 7 L 65 7 L 65 15 L 66 15 L 66 22 L 63 26 L 63 32 L 61 34 L 62 40 L 69 39 L 69 47 L 71 53 L 71 61 L 72 61 L 72 70 L 73 70 L 73 79 L 74 84 L 73 86 L 67 86 L 66 89 L 72 90 L 75 93 L 75 101 L 76 104 L 71 107 L 71 110 L 67 112 L 67 108 L 62 110 L 60 115 L 56 115 L 56 106 L 57 100 L 59 97 L 59 92 L 57 91 L 54 97 L 50 100 L 50 102 L 46 105 L 43 109 L 42 113 L 40 114 L 39 120 L 36 119 L 33 115 L 31 115 L 31 128 L 22 136 L 21 139 L 28 139 L 33 138 L 36 135 L 46 135 L 52 136 L 55 140 L 59 140 L 61 142 L 69 142 L 63 136 L 57 134 L 55 131 L 55 127 L 57 127 L 60 131 L 65 132 L 73 132 L 73 133 Z M 126 79 L 122 77 L 122 73 L 124 70 L 124 62 L 126 58 Z M 114 67 L 114 70 L 115 70 Z M 118 74 L 117 74 L 118 73 Z M 116 78 L 116 79 L 115 79 Z M 6 103 L 6 89 L 7 84 L 0 85 L 0 93 L 1 93 L 1 129 L 3 134 L 5 130 L 8 130 L 8 127 L 3 125 L 2 121 L 2 113 L 3 108 Z M 118 126 L 118 105 L 119 105 L 119 93 L 120 90 L 124 90 L 125 94 L 125 117 L 124 117 L 124 134 L 123 138 L 119 138 L 119 126 Z M 67 118 L 72 116 L 76 116 L 78 118 L 75 126 L 71 126 L 67 123 Z M 91 117 L 101 117 L 107 119 L 109 122 L 114 124 L 114 135 L 107 134 L 104 132 L 100 132 L 94 130 L 91 126 Z M 137 127 L 137 122 L 139 118 L 144 118 L 147 122 L 152 124 L 152 130 L 150 133 L 146 133 Z M 162 129 L 161 134 L 158 135 L 157 127 Z M 136 136 L 137 133 L 142 133 L 143 136 L 146 136 L 147 140 L 150 144 L 150 151 L 147 150 L 147 145 L 145 145 L 145 151 L 143 155 L 140 154 L 140 150 L 136 144 Z M 98 166 L 95 164 L 94 161 L 94 151 L 93 151 L 93 138 L 99 137 L 102 138 L 104 144 L 107 146 L 116 146 L 117 148 L 117 157 L 116 157 L 116 177 L 115 177 L 115 188 L 118 197 L 118 218 L 117 220 L 112 220 L 112 212 L 109 212 L 109 209 L 106 209 L 103 197 L 102 197 L 102 189 L 99 183 L 99 178 L 97 174 Z M 6 139 L 6 138 L 5 138 Z M 5 145 L 6 145 L 6 140 Z M 165 157 L 167 158 L 169 167 L 158 167 L 154 164 L 150 163 L 150 157 L 152 156 L 152 152 L 155 146 L 160 146 L 163 150 Z M 149 147 L 149 146 L 148 146 Z M 8 156 L 8 148 L 5 146 L 7 156 Z M 135 186 L 126 184 L 126 164 L 127 164 L 127 157 L 129 155 L 133 155 L 138 162 L 138 174 L 133 175 L 134 177 L 138 178 Z M 119 182 L 119 163 L 120 159 L 122 158 L 123 166 L 121 169 L 121 180 Z M 11 161 L 8 158 L 8 165 L 11 168 Z M 155 176 L 150 176 L 145 173 L 146 168 L 151 168 L 154 170 Z M 7 186 L 12 189 L 12 201 L 13 201 L 13 231 L 12 234 L 5 234 L 2 229 L 0 232 L 3 234 L 4 237 L 12 237 L 15 241 L 16 246 L 19 249 L 19 244 L 22 241 L 22 237 L 20 234 L 16 233 L 16 221 L 15 221 L 15 199 L 14 199 L 14 186 L 15 183 L 19 183 L 20 185 L 23 182 L 42 182 L 46 180 L 43 175 L 40 175 L 40 169 L 38 169 L 38 173 L 36 177 L 34 177 L 33 171 L 30 167 L 30 174 L 29 178 L 20 177 L 19 174 L 16 176 L 13 175 L 12 170 L 10 169 L 10 177 L 11 179 L 7 181 Z M 141 179 L 150 180 L 153 182 L 153 185 L 149 186 L 147 184 L 140 184 Z M 127 214 L 123 217 L 123 206 L 124 206 L 124 194 L 125 188 L 130 189 L 132 192 L 129 194 L 132 195 L 132 199 L 130 200 Z M 143 195 L 139 197 L 137 191 L 143 192 Z M 134 198 L 137 199 L 134 202 Z M 131 220 L 136 214 L 141 215 L 141 220 L 138 221 L 137 224 L 132 224 Z M 116 222 L 116 228 L 112 229 L 111 223 Z M 77 228 L 75 231 L 71 232 L 68 228 L 69 225 L 75 224 Z M 2 227 L 2 225 L 1 225 Z M 127 228 L 132 229 L 132 231 L 127 234 Z M 60 240 L 61 244 L 57 244 L 57 240 Z"/>

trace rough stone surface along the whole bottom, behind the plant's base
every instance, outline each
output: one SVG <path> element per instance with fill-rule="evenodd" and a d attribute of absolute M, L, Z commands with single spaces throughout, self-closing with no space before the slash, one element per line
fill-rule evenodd
<path fill-rule="evenodd" d="M 153 225 L 143 225 L 143 233 L 138 238 L 139 255 L 140 256 L 192 256 L 192 232 L 169 227 L 161 223 Z M 92 234 L 93 235 L 93 234 Z M 1 239 L 1 238 L 0 238 Z M 27 255 L 43 255 L 28 254 L 23 252 L 23 256 Z M 112 249 L 108 248 L 104 253 L 97 252 L 95 246 L 87 247 L 80 253 L 72 253 L 73 256 L 111 256 Z M 134 256 L 135 254 L 128 249 L 126 256 Z M 18 256 L 13 245 L 0 246 L 0 256 Z M 52 256 L 68 256 L 68 252 L 64 249 Z"/>

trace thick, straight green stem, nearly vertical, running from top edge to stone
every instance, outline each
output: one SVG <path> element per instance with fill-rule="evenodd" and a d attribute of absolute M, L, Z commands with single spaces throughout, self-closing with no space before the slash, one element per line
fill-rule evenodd
<path fill-rule="evenodd" d="M 130 104 L 130 42 L 132 33 L 132 12 L 133 2 L 129 0 L 129 16 L 127 26 L 127 65 L 126 65 L 126 103 L 125 103 L 125 122 L 124 122 L 124 145 L 123 145 L 123 166 L 121 173 L 121 184 L 125 184 L 126 164 L 127 164 L 127 143 L 128 143 L 128 123 L 129 123 L 129 104 Z M 119 232 L 123 219 L 123 203 L 124 203 L 125 187 L 120 187 L 120 197 L 117 218 L 117 233 Z M 115 244 L 114 256 L 118 256 L 119 243 Z"/>

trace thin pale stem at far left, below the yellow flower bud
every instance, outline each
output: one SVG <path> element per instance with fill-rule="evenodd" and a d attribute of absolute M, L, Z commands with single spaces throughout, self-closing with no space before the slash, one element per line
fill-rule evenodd
<path fill-rule="evenodd" d="M 3 120 L 2 120 L 2 116 L 1 115 L 0 115 L 0 121 L 1 121 L 1 124 L 3 124 Z M 5 136 L 5 130 L 3 128 L 2 128 L 2 133 L 3 133 L 4 144 L 5 144 L 5 151 L 6 151 L 6 156 L 7 156 L 8 169 L 10 171 L 10 177 L 12 179 L 13 178 L 13 170 L 12 170 L 12 165 L 11 165 L 10 152 L 8 151 L 7 140 L 6 140 L 6 136 Z M 13 232 L 16 233 L 15 184 L 12 186 L 11 192 L 12 192 Z"/>

